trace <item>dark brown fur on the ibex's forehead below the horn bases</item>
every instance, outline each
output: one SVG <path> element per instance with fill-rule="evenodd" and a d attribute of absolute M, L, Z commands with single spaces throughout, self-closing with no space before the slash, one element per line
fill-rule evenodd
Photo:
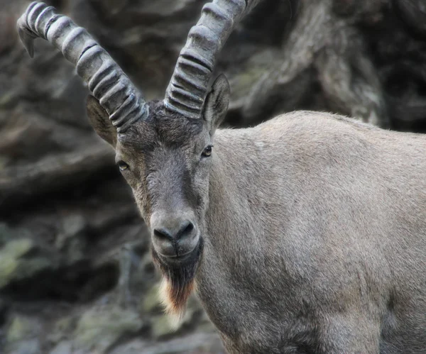
<path fill-rule="evenodd" d="M 126 133 L 119 134 L 119 141 L 123 145 L 137 146 L 138 150 L 153 150 L 158 144 L 180 146 L 200 134 L 202 127 L 202 119 L 169 114 L 163 101 L 151 101 L 148 118 L 134 123 Z"/>

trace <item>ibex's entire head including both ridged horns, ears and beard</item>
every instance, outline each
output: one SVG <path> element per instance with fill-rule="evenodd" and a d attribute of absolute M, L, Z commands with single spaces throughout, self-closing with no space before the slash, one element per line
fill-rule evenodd
<path fill-rule="evenodd" d="M 213 136 L 229 103 L 220 75 L 207 93 L 234 24 L 258 0 L 214 0 L 202 9 L 180 52 L 163 101 L 147 103 L 109 54 L 52 6 L 33 2 L 18 32 L 33 56 L 44 38 L 77 67 L 90 92 L 89 121 L 116 151 L 116 163 L 151 228 L 153 258 L 167 280 L 168 310 L 185 306 L 203 249 Z"/>

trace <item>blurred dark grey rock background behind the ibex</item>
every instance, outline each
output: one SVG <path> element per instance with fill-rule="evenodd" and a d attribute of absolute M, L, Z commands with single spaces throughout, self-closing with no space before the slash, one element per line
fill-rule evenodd
<path fill-rule="evenodd" d="M 54 0 L 148 99 L 162 98 L 204 0 Z M 0 353 L 223 353 L 196 299 L 173 331 L 156 298 L 149 238 L 87 88 L 43 40 L 31 60 L 0 0 Z M 217 67 L 226 125 L 294 109 L 426 132 L 426 3 L 263 0 Z M 253 186 L 255 187 L 255 186 Z"/>

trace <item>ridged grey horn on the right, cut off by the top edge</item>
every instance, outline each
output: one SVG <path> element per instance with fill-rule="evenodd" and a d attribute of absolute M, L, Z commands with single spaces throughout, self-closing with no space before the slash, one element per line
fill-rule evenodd
<path fill-rule="evenodd" d="M 200 118 L 209 78 L 220 50 L 236 23 L 260 0 L 214 0 L 205 4 L 181 50 L 172 79 L 165 92 L 169 111 Z"/>

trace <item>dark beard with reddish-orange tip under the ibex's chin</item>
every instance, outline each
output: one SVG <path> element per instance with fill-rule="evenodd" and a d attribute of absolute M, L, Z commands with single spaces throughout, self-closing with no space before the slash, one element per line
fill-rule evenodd
<path fill-rule="evenodd" d="M 160 287 L 160 299 L 167 314 L 177 320 L 185 314 L 187 299 L 195 286 L 195 274 L 200 266 L 204 242 L 200 238 L 195 250 L 182 260 L 165 260 L 154 248 L 151 248 L 153 261 L 163 275 Z"/>

